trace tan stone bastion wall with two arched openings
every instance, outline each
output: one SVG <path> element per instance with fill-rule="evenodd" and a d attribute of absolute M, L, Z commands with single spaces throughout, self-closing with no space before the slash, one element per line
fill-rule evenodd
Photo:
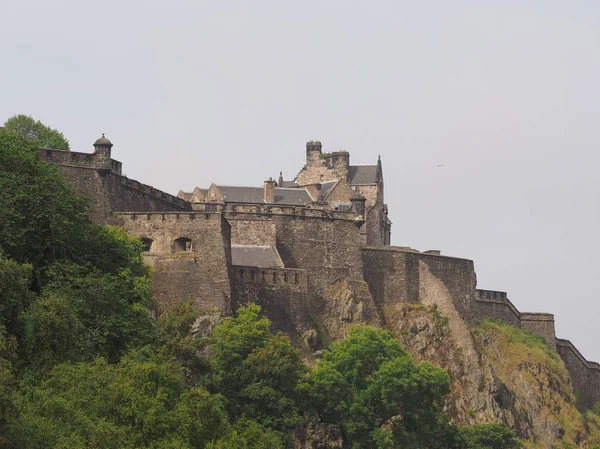
<path fill-rule="evenodd" d="M 192 299 L 205 311 L 231 312 L 231 229 L 221 213 L 122 213 L 127 232 L 147 239 L 159 308 Z"/>

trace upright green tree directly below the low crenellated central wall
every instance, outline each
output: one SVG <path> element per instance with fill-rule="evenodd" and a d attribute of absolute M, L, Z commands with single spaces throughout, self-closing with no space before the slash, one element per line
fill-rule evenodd
<path fill-rule="evenodd" d="M 237 317 L 226 318 L 213 336 L 209 384 L 227 398 L 231 419 L 246 417 L 279 431 L 298 424 L 300 354 L 287 336 L 271 332 L 260 307 L 240 307 Z"/>

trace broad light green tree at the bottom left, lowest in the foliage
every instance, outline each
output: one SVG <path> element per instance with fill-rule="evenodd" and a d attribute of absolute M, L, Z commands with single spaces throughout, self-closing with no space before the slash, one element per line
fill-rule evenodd
<path fill-rule="evenodd" d="M 22 448 L 191 449 L 228 430 L 222 398 L 188 390 L 181 366 L 152 351 L 58 365 L 23 409 L 10 435 Z"/>

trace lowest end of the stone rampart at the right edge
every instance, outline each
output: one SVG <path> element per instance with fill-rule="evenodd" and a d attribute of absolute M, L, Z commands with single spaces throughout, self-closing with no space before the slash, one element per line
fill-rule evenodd
<path fill-rule="evenodd" d="M 587 361 L 569 340 L 556 339 L 556 350 L 571 375 L 581 406 L 593 408 L 600 402 L 600 364 Z"/>

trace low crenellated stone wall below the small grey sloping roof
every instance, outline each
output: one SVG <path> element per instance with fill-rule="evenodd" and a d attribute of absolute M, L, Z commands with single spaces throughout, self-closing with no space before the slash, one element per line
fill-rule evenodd
<path fill-rule="evenodd" d="M 276 330 L 296 339 L 312 327 L 305 270 L 233 266 L 233 309 L 254 302 Z"/>

